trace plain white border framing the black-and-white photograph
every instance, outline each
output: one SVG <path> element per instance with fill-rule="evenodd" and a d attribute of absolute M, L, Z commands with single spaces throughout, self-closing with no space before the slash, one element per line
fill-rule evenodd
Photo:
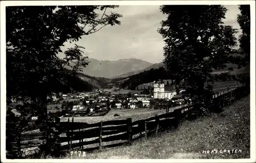
<path fill-rule="evenodd" d="M 251 9 L 251 60 L 250 60 L 250 159 L 5 159 L 6 122 L 6 6 L 42 5 L 243 5 Z M 237 16 L 237 15 L 235 15 Z M 1 1 L 1 162 L 255 162 L 255 1 Z M 253 154 L 254 153 L 254 154 Z"/>

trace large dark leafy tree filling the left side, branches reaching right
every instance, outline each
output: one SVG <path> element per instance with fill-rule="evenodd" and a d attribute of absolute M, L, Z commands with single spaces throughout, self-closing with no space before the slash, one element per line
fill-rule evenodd
<path fill-rule="evenodd" d="M 6 8 L 6 69 L 7 97 L 21 96 L 29 110 L 19 112 L 22 117 L 38 115 L 38 123 L 45 135 L 54 129 L 47 116 L 47 95 L 54 87 L 66 85 L 66 76 L 75 76 L 88 65 L 84 47 L 68 48 L 63 59 L 58 57 L 63 43 L 75 42 L 83 35 L 93 34 L 106 25 L 119 25 L 118 13 L 106 14 L 106 9 L 118 6 L 12 6 Z M 99 15 L 96 11 L 101 12 Z M 66 71 L 69 68 L 71 71 Z M 31 106 L 30 106 L 31 105 Z M 32 107 L 33 106 L 33 107 Z M 32 108 L 31 108 L 32 107 Z M 26 112 L 25 112 L 26 111 Z M 11 120 L 11 119 L 8 119 Z M 27 123 L 19 123 L 21 132 Z M 10 130 L 8 130 L 10 129 Z M 15 128 L 7 126 L 7 132 Z M 56 132 L 56 134 L 58 134 Z M 50 139 L 49 139 L 50 140 Z M 51 139 L 52 140 L 52 139 Z M 56 143 L 41 146 L 47 154 Z M 55 150 L 56 151 L 56 150 Z"/>

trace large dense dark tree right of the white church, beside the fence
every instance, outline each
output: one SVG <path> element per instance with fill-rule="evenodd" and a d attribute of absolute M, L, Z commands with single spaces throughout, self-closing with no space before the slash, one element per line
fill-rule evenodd
<path fill-rule="evenodd" d="M 182 80 L 197 113 L 207 113 L 212 91 L 204 88 L 212 68 L 224 68 L 236 45 L 229 25 L 223 25 L 226 8 L 221 5 L 161 6 L 167 15 L 158 32 L 164 38 L 164 64 L 175 84 Z"/>

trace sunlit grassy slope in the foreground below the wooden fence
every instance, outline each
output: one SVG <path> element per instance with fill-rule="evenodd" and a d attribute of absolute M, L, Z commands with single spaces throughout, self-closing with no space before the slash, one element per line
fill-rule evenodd
<path fill-rule="evenodd" d="M 202 150 L 241 149 L 241 153 L 202 154 Z M 69 154 L 65 158 L 249 158 L 250 96 L 225 107 L 220 114 L 184 121 L 178 129 L 158 137 L 87 153 L 85 157 Z"/>

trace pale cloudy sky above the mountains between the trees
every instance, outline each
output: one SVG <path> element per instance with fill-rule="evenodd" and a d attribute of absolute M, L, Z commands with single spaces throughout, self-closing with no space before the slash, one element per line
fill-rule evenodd
<path fill-rule="evenodd" d="M 237 15 L 240 14 L 237 5 L 228 5 L 226 25 L 232 25 L 238 29 L 236 37 L 241 34 L 237 22 Z M 76 42 L 83 46 L 84 54 L 89 58 L 97 60 L 117 61 L 119 59 L 135 58 L 150 63 L 162 62 L 164 41 L 157 32 L 161 27 L 161 20 L 166 15 L 160 12 L 159 6 L 119 6 L 116 9 L 109 9 L 108 12 L 122 14 L 119 18 L 121 25 L 105 26 L 100 31 L 82 38 Z M 65 43 L 62 50 L 73 47 L 74 43 Z M 62 55 L 60 55 L 62 57 Z"/>

